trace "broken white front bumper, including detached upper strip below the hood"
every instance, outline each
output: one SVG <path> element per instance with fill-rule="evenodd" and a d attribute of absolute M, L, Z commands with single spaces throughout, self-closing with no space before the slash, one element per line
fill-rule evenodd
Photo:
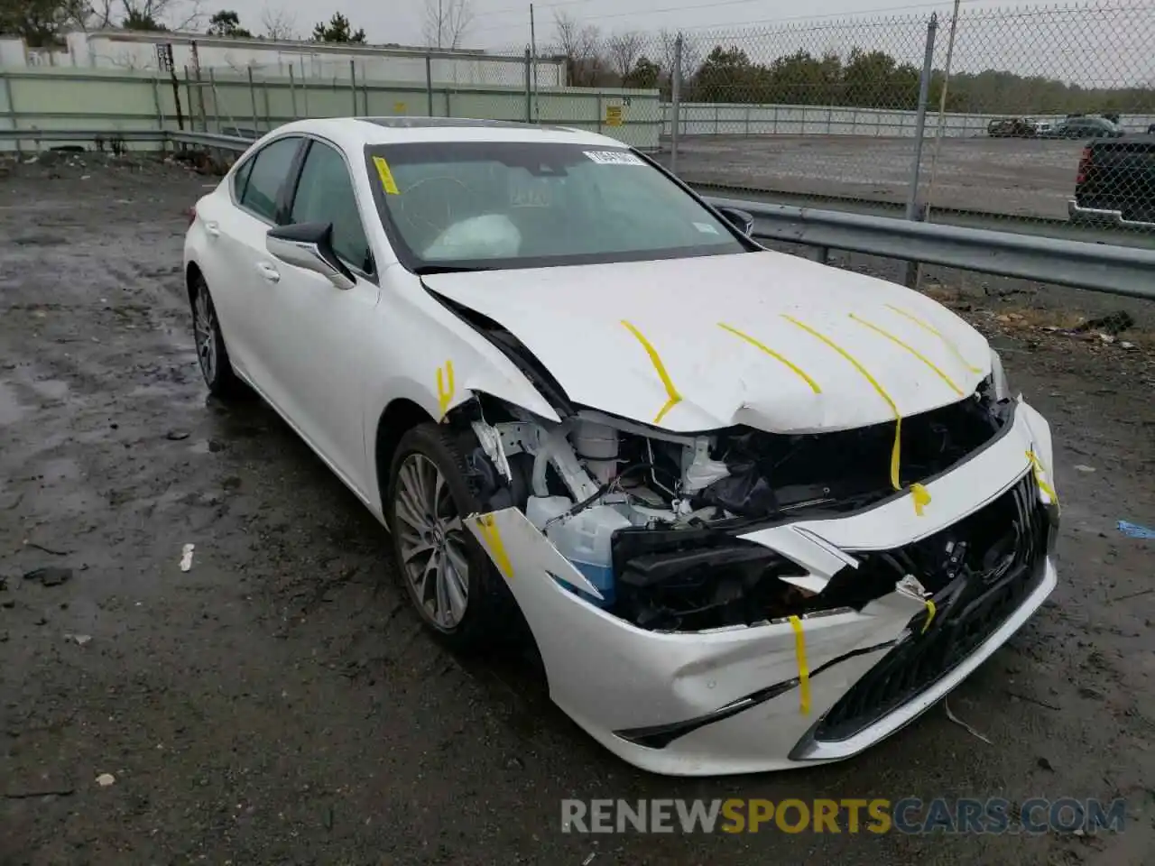
<path fill-rule="evenodd" d="M 1044 492 L 1052 488 L 1035 475 L 1050 465 L 1046 424 L 1020 403 L 1004 435 L 926 484 L 931 503 L 922 515 L 903 497 L 745 538 L 790 557 L 821 582 L 845 567 L 845 551 L 927 538 L 1000 497 L 1021 499 L 1029 491 L 1038 508 L 1053 509 Z M 469 525 L 494 561 L 509 566 L 508 585 L 534 632 L 553 701 L 611 752 L 669 775 L 778 770 L 855 755 L 954 688 L 1056 585 L 1044 545 L 1015 574 L 944 606 L 937 621 L 922 599 L 894 591 L 860 611 L 658 633 L 562 588 L 561 581 L 574 582 L 573 566 L 521 512 L 476 516 Z M 1004 584 L 1013 591 L 1001 591 Z M 942 655 L 952 647 L 954 655 Z"/>

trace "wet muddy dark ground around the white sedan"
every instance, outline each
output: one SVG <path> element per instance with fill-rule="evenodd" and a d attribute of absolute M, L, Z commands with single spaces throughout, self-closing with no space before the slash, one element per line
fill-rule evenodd
<path fill-rule="evenodd" d="M 211 182 L 0 177 L 0 864 L 1149 861 L 1153 543 L 1116 529 L 1155 525 L 1149 349 L 957 301 L 1051 419 L 1064 502 L 1059 589 L 951 700 L 989 744 L 940 706 L 849 762 L 662 778 L 522 665 L 439 649 L 353 497 L 269 410 L 206 400 L 180 248 Z M 70 578 L 22 577 L 46 566 Z M 1029 838 L 559 826 L 567 797 L 732 796 L 1124 797 L 1128 816 Z"/>

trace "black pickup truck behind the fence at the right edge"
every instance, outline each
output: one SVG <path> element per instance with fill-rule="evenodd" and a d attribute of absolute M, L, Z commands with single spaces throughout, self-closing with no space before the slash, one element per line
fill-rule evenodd
<path fill-rule="evenodd" d="M 1089 142 L 1067 210 L 1074 222 L 1155 232 L 1155 135 Z"/>

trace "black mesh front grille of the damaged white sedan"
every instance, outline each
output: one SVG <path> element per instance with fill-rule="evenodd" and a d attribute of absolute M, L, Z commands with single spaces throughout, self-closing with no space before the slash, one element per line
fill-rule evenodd
<path fill-rule="evenodd" d="M 916 614 L 907 626 L 910 635 L 830 708 L 814 730 L 815 739 L 845 740 L 932 686 L 1006 622 L 1038 585 L 1050 521 L 1038 501 L 1034 476 L 1028 473 L 961 527 L 982 527 L 984 521 L 988 529 L 992 522 L 1001 528 L 1001 533 L 996 533 L 1001 546 L 992 544 L 982 552 L 981 560 L 989 567 L 963 568 L 934 591 L 936 614 L 930 627 L 923 632 L 929 612 Z M 918 546 L 925 548 L 926 543 Z M 907 552 L 888 553 L 903 557 Z M 917 576 L 924 585 L 934 585 L 933 575 Z"/>

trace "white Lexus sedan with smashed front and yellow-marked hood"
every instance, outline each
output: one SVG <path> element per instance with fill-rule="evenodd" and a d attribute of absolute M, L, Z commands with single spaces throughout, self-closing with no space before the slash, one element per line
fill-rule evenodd
<path fill-rule="evenodd" d="M 196 203 L 196 351 L 388 528 L 433 633 L 528 626 L 629 763 L 843 759 L 1055 588 L 1050 430 L 953 313 L 752 222 L 576 129 L 293 122 Z"/>

